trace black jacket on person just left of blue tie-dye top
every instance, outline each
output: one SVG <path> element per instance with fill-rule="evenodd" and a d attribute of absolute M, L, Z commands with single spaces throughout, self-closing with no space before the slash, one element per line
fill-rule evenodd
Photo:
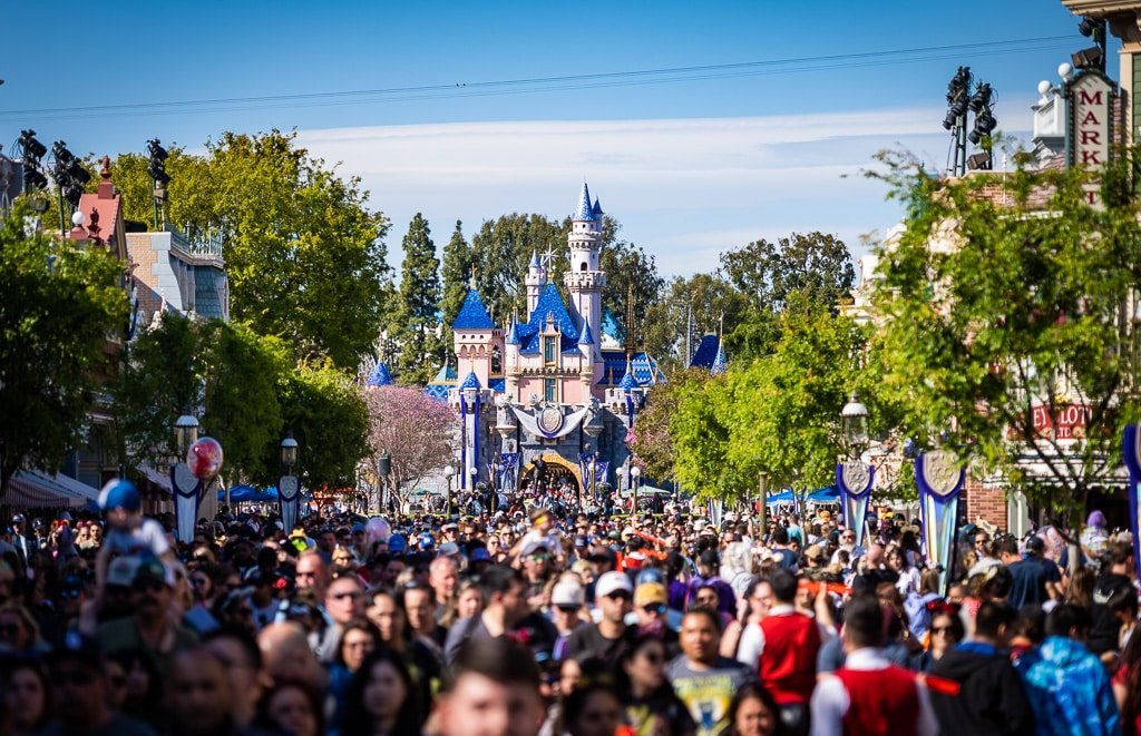
<path fill-rule="evenodd" d="M 961 644 L 945 654 L 928 673 L 928 689 L 944 734 L 1034 734 L 1021 678 L 1004 653 L 986 645 Z"/>

